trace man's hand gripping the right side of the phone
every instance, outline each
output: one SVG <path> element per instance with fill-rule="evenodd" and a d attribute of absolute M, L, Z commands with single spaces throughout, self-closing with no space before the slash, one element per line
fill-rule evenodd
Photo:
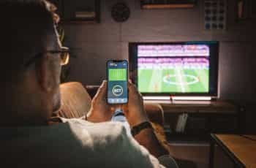
<path fill-rule="evenodd" d="M 143 98 L 138 92 L 135 85 L 130 81 L 128 83 L 129 88 L 129 102 L 124 106 L 124 115 L 127 117 L 127 121 L 131 128 L 140 123 L 148 120 L 148 116 L 143 107 Z"/>

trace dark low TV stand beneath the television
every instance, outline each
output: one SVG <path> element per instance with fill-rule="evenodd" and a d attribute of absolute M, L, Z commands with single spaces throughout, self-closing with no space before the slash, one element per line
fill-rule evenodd
<path fill-rule="evenodd" d="M 170 142 L 208 141 L 211 133 L 241 134 L 244 130 L 245 114 L 232 102 L 217 100 L 159 104 L 164 111 L 165 133 Z M 187 116 L 186 121 L 179 119 L 184 116 Z M 184 124 L 183 130 L 177 129 L 178 122 Z"/>

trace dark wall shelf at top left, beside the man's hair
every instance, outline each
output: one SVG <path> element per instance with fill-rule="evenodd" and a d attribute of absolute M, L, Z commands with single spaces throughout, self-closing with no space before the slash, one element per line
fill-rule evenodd
<path fill-rule="evenodd" d="M 100 21 L 100 0 L 50 0 L 58 7 L 56 11 L 64 23 Z"/>

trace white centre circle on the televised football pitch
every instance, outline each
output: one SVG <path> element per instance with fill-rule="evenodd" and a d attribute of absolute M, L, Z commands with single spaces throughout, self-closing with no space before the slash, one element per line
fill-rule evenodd
<path fill-rule="evenodd" d="M 166 75 L 164 78 L 163 78 L 163 81 L 167 84 L 170 84 L 170 85 L 193 85 L 195 83 L 198 83 L 199 82 L 199 79 L 198 77 L 195 77 L 193 75 L 181 75 L 181 77 L 184 77 L 184 78 L 188 78 L 192 81 L 190 82 L 184 82 L 184 83 L 181 83 L 181 82 L 176 82 L 176 81 L 173 81 L 173 79 L 177 78 L 177 77 L 180 77 L 179 75 Z"/>

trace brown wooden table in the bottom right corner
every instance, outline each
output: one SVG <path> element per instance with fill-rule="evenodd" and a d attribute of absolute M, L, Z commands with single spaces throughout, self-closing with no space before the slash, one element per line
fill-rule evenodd
<path fill-rule="evenodd" d="M 218 145 L 235 167 L 256 167 L 256 135 L 211 134 L 209 167 L 214 167 L 214 148 Z"/>

